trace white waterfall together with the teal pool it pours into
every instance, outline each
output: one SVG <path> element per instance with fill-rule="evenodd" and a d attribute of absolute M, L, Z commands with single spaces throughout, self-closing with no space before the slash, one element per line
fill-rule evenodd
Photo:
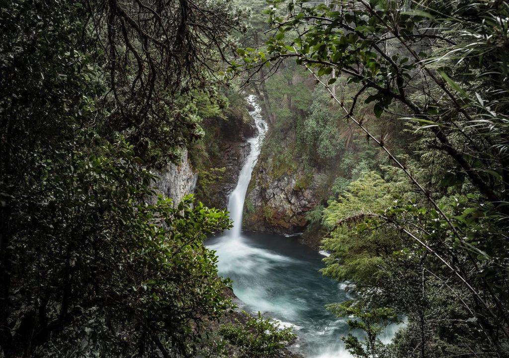
<path fill-rule="evenodd" d="M 242 309 L 261 311 L 283 325 L 293 325 L 298 339 L 292 350 L 313 358 L 350 357 L 341 341 L 349 332 L 346 321 L 325 309 L 326 304 L 350 297 L 344 284 L 320 274 L 323 256 L 292 237 L 241 231 L 247 186 L 266 132 L 256 97 L 249 96 L 247 101 L 254 107 L 250 115 L 258 135 L 248 140 L 250 152 L 228 201 L 234 226 L 210 239 L 207 246 L 216 251 L 221 276 L 233 280 Z"/>

